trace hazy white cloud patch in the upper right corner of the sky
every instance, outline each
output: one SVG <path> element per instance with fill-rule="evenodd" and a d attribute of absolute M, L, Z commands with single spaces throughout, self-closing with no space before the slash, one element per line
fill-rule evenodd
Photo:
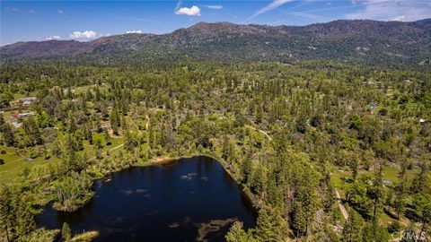
<path fill-rule="evenodd" d="M 417 21 L 431 18 L 431 4 L 424 0 L 364 0 L 361 9 L 346 15 L 347 19 L 379 21 Z"/>

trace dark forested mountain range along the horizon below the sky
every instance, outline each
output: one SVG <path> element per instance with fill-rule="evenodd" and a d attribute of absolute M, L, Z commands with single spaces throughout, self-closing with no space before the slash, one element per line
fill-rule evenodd
<path fill-rule="evenodd" d="M 429 65 L 431 19 L 418 22 L 335 21 L 307 26 L 199 22 L 172 33 L 123 34 L 89 42 L 17 42 L 2 60 L 66 58 L 97 62 L 337 60 Z"/>

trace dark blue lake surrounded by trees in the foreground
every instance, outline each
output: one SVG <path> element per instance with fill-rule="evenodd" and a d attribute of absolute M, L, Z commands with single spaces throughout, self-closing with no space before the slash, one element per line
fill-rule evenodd
<path fill-rule="evenodd" d="M 90 203 L 76 212 L 48 207 L 39 225 L 73 233 L 98 230 L 94 241 L 224 241 L 233 220 L 255 226 L 256 213 L 222 166 L 208 157 L 125 169 L 96 181 Z"/>

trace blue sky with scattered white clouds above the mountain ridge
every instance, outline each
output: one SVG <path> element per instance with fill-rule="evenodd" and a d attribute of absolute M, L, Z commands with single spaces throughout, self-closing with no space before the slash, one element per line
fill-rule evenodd
<path fill-rule="evenodd" d="M 3 1 L 0 45 L 166 33 L 197 22 L 305 25 L 339 19 L 431 18 L 431 0 Z"/>

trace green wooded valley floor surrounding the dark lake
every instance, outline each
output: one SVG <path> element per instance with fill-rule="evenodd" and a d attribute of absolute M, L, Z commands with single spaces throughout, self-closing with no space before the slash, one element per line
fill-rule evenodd
<path fill-rule="evenodd" d="M 227 241 L 426 241 L 430 80 L 322 61 L 4 63 L 0 240 L 84 239 L 37 227 L 40 207 L 75 211 L 94 179 L 205 154 L 259 210 L 256 228 L 234 222 Z"/>

